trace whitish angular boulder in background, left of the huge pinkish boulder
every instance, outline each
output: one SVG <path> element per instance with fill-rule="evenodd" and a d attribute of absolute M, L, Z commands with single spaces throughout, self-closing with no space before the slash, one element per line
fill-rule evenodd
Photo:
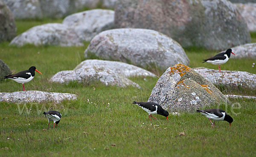
<path fill-rule="evenodd" d="M 63 24 L 73 28 L 81 40 L 90 41 L 96 34 L 114 27 L 114 11 L 93 9 L 71 14 Z"/>

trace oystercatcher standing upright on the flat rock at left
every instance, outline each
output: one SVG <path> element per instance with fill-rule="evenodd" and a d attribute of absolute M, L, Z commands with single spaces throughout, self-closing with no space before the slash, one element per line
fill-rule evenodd
<path fill-rule="evenodd" d="M 12 79 L 12 80 L 15 80 L 18 83 L 22 83 L 22 90 L 26 91 L 24 83 L 27 83 L 27 82 L 31 81 L 34 78 L 35 71 L 37 71 L 39 74 L 42 74 L 37 69 L 35 69 L 35 66 L 31 66 L 29 68 L 29 70 L 20 71 L 17 74 L 8 75 L 8 76 L 5 76 L 4 78 L 5 79 L 6 78 Z"/>

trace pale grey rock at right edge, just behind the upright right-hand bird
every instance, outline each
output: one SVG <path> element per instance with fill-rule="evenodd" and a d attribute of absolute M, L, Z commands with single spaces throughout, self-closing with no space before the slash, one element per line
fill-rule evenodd
<path fill-rule="evenodd" d="M 256 43 L 239 45 L 231 48 L 236 55 L 230 58 L 255 58 L 256 59 Z"/>

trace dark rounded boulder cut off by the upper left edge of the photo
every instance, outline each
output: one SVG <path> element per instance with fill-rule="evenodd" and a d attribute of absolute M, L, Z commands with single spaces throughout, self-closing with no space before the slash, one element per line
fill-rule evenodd
<path fill-rule="evenodd" d="M 12 40 L 16 35 L 16 26 L 12 11 L 0 0 L 0 42 Z"/>

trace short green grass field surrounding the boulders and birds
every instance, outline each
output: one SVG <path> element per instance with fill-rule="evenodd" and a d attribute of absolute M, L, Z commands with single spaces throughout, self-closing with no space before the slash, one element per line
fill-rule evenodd
<path fill-rule="evenodd" d="M 17 21 L 18 34 L 32 26 L 61 20 Z M 256 41 L 255 33 L 252 40 Z M 130 157 L 187 157 L 187 156 L 255 156 L 256 154 L 256 100 L 230 99 L 232 104 L 213 105 L 226 110 L 234 122 L 216 122 L 211 128 L 206 117 L 198 113 L 181 112 L 180 116 L 156 115 L 150 121 L 148 114 L 132 101 L 147 101 L 156 78 L 132 77 L 142 89 L 70 83 L 49 83 L 53 74 L 72 70 L 82 60 L 84 47 L 24 46 L 17 48 L 0 43 L 0 59 L 13 72 L 36 68 L 43 74 L 25 84 L 26 90 L 40 90 L 77 94 L 78 99 L 55 103 L 0 103 L 0 156 L 130 156 Z M 218 69 L 201 60 L 217 51 L 187 48 L 190 67 Z M 236 53 L 236 52 L 234 52 Z M 230 59 L 223 70 L 240 70 L 256 74 L 252 65 L 256 60 Z M 162 74 L 163 71 L 158 71 Z M 224 94 L 256 96 L 256 90 L 219 87 Z M 21 91 L 22 85 L 12 80 L 0 82 L 0 92 Z M 231 107 L 233 105 L 233 107 Z M 234 108 L 237 107 L 237 108 Z M 49 109 L 60 111 L 58 127 L 47 127 L 42 114 Z M 184 135 L 179 135 L 184 133 Z"/>

